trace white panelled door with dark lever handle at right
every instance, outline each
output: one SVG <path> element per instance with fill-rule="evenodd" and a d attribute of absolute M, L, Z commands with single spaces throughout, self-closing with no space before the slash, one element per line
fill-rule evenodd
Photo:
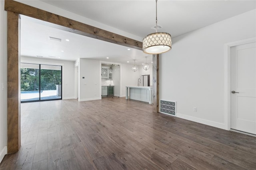
<path fill-rule="evenodd" d="M 230 48 L 231 129 L 256 134 L 256 42 Z"/>

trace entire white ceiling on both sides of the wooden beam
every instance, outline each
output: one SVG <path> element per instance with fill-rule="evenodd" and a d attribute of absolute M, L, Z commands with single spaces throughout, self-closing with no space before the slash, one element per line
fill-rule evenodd
<path fill-rule="evenodd" d="M 155 25 L 155 0 L 42 1 L 139 37 L 154 32 L 151 27 Z M 176 37 L 255 8 L 255 0 L 158 0 L 158 24 L 162 26 L 158 31 Z M 54 56 L 72 61 L 90 58 L 114 63 L 133 63 L 136 59 L 138 64 L 145 63 L 146 56 L 152 60 L 142 51 L 128 51 L 128 47 L 54 29 L 27 17 L 22 18 L 21 35 L 23 56 Z M 49 36 L 62 41 L 50 41 Z"/>

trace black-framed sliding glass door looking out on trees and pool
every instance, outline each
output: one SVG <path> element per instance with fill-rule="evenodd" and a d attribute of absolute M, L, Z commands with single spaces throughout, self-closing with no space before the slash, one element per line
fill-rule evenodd
<path fill-rule="evenodd" d="M 62 66 L 21 63 L 21 102 L 62 99 Z"/>

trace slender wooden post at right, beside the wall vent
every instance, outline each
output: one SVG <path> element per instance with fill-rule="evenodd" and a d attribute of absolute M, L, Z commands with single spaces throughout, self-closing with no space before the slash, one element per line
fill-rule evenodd
<path fill-rule="evenodd" d="M 159 112 L 159 55 L 153 55 L 153 112 Z"/>

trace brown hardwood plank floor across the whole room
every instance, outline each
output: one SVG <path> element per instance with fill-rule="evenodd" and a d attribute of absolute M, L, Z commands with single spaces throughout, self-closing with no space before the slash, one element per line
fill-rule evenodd
<path fill-rule="evenodd" d="M 125 98 L 21 104 L 22 147 L 1 170 L 255 170 L 256 137 Z"/>

